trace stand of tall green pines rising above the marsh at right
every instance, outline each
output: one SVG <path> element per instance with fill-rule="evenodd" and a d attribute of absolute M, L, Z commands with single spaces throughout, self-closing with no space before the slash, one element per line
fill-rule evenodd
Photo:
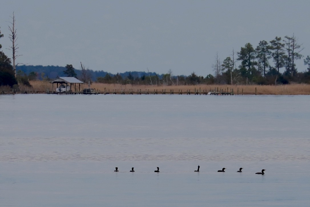
<path fill-rule="evenodd" d="M 310 83 L 310 57 L 304 59 L 308 68 L 298 72 L 296 61 L 302 59 L 302 44 L 293 36 L 260 41 L 255 47 L 246 43 L 239 52 L 232 52 L 223 62 L 216 56 L 213 70 L 215 83 L 223 84 L 287 84 Z M 236 54 L 236 58 L 235 58 Z M 240 61 L 237 67 L 236 61 Z M 281 73 L 280 69 L 284 68 Z"/>

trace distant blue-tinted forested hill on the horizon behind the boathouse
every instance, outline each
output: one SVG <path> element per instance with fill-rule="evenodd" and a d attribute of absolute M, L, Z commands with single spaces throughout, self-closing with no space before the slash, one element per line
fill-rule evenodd
<path fill-rule="evenodd" d="M 18 65 L 16 67 L 16 71 L 21 70 L 23 71 L 26 75 L 29 75 L 31 72 L 35 72 L 38 74 L 38 79 L 42 78 L 49 78 L 49 79 L 55 79 L 57 77 L 63 77 L 66 76 L 63 71 L 67 70 L 65 67 L 62 66 L 54 66 L 54 65 L 48 65 L 48 66 L 42 66 L 42 65 Z M 81 71 L 82 70 L 77 70 L 74 69 L 75 73 L 80 77 Z M 91 79 L 93 81 L 96 81 L 98 77 L 104 77 L 108 72 L 105 72 L 103 70 L 100 71 L 93 71 L 93 70 L 88 70 L 88 72 L 91 74 Z M 134 78 L 140 78 L 143 75 L 148 76 L 148 75 L 157 75 L 159 78 L 162 77 L 162 75 L 158 75 L 156 73 L 146 73 L 146 72 L 137 72 L 137 71 L 130 71 L 130 72 L 125 72 L 125 73 L 119 73 L 122 78 L 126 78 L 129 73 L 134 77 Z M 111 76 L 114 76 L 115 74 L 109 73 Z"/>

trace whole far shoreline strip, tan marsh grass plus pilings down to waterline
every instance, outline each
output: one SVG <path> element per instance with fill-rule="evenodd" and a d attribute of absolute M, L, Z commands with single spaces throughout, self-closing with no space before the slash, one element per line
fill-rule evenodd
<path fill-rule="evenodd" d="M 19 86 L 20 91 L 11 88 L 0 88 L 0 94 L 33 94 L 53 93 L 56 86 L 48 81 L 30 81 L 32 87 Z M 80 91 L 88 88 L 88 84 L 81 84 Z M 310 84 L 288 85 L 121 85 L 92 83 L 96 94 L 196 94 L 203 95 L 212 92 L 215 95 L 310 95 Z M 70 94 L 78 94 L 79 87 L 74 85 Z"/>

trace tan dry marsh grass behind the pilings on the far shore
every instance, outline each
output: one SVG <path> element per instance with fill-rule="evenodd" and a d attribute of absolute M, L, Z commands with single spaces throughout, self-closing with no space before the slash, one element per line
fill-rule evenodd
<path fill-rule="evenodd" d="M 21 91 L 37 91 L 37 92 L 50 92 L 55 91 L 56 84 L 52 88 L 52 84 L 48 81 L 30 81 L 32 87 L 20 86 Z M 74 87 L 74 86 L 73 86 Z M 76 85 L 78 90 L 78 84 Z M 80 89 L 88 88 L 88 84 L 81 84 Z M 92 83 L 91 88 L 95 88 L 98 92 L 121 92 L 124 91 L 129 93 L 130 91 L 136 93 L 141 90 L 141 93 L 150 92 L 154 90 L 158 93 L 166 90 L 166 93 L 170 93 L 173 90 L 174 93 L 178 93 L 182 90 L 182 93 L 187 91 L 194 92 L 231 92 L 234 94 L 272 94 L 272 95 L 310 95 L 309 84 L 290 84 L 290 85 L 277 85 L 277 86 L 266 86 L 266 85 L 179 85 L 179 86 L 156 86 L 156 85 L 121 85 L 121 84 L 104 84 L 104 83 Z M 73 89 L 74 90 L 74 89 Z M 0 89 L 1 91 L 1 89 Z"/>

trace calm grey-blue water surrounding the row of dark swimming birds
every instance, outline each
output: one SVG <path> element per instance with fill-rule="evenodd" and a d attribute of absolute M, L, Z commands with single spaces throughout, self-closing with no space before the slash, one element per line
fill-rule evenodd
<path fill-rule="evenodd" d="M 308 206 L 309 105 L 309 96 L 1 95 L 0 205 Z"/>

